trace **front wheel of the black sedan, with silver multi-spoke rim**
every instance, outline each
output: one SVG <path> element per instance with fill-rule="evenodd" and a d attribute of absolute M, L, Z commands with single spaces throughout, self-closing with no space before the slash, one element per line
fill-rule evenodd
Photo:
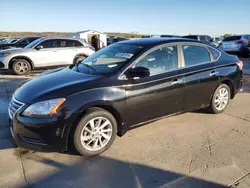
<path fill-rule="evenodd" d="M 90 108 L 75 129 L 74 145 L 81 155 L 98 155 L 112 145 L 116 134 L 113 115 L 102 108 Z"/>

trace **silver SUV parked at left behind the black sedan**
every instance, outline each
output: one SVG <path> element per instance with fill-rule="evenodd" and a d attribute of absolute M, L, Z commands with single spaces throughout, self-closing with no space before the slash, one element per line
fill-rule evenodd
<path fill-rule="evenodd" d="M 0 69 L 23 75 L 38 67 L 65 66 L 82 60 L 95 49 L 81 39 L 42 37 L 25 48 L 0 51 Z"/>

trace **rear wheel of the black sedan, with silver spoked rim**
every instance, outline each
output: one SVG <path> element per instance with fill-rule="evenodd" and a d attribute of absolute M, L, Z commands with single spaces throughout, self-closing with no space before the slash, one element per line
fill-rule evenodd
<path fill-rule="evenodd" d="M 228 85 L 220 84 L 213 94 L 209 111 L 214 114 L 219 114 L 225 111 L 230 102 L 230 96 L 231 91 Z"/>

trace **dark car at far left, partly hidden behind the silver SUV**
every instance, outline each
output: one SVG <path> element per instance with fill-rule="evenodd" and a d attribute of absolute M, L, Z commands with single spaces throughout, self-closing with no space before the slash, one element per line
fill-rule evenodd
<path fill-rule="evenodd" d="M 0 44 L 0 50 L 6 50 L 10 48 L 24 48 L 25 46 L 39 38 L 40 37 L 24 37 L 16 43 L 2 43 Z"/>

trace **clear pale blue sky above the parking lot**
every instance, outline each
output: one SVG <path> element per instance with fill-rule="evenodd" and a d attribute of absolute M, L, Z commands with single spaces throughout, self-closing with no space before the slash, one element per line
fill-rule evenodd
<path fill-rule="evenodd" d="M 0 0 L 0 31 L 250 34 L 250 0 Z"/>

